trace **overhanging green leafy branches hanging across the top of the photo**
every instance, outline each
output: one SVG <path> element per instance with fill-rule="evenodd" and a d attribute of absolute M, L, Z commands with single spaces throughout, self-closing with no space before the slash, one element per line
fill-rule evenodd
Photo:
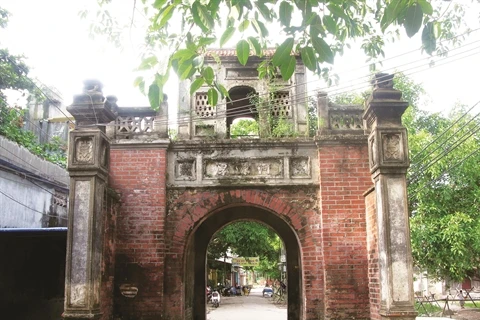
<path fill-rule="evenodd" d="M 112 3 L 99 0 L 97 17 L 101 21 L 92 30 L 120 43 L 121 24 L 110 14 Z M 267 71 L 273 68 L 284 80 L 293 75 L 297 64 L 292 53 L 310 71 L 325 76 L 328 66 L 349 46 L 349 41 L 360 40 L 366 56 L 373 59 L 384 55 L 385 36 L 398 35 L 400 29 L 408 37 L 421 32 L 423 48 L 432 54 L 437 49 L 437 40 L 451 37 L 462 22 L 462 7 L 454 5 L 447 10 L 444 3 L 440 0 L 142 0 L 135 2 L 132 10 L 137 17 L 141 16 L 139 19 L 148 19 L 147 49 L 139 69 L 153 71 L 153 77 L 149 80 L 139 77 L 135 84 L 148 94 L 152 107 L 158 108 L 173 69 L 180 80 L 192 79 L 192 93 L 203 85 L 209 86 L 209 103 L 216 105 L 228 93 L 203 61 L 209 46 L 223 47 L 234 39 L 233 47 L 243 65 L 251 54 L 263 56 L 266 48 L 275 47 L 273 56 L 259 66 L 259 75 L 267 76 L 271 74 Z M 82 12 L 82 16 L 88 13 Z M 135 23 L 132 16 L 129 24 Z M 272 43 L 275 37 L 283 40 Z M 159 51 L 167 51 L 167 58 L 159 58 Z"/>

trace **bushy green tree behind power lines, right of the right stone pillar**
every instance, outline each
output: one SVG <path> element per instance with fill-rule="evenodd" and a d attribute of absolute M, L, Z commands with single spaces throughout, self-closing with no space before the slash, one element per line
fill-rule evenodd
<path fill-rule="evenodd" d="M 432 278 L 473 277 L 480 263 L 480 105 L 470 112 L 457 105 L 448 115 L 429 113 L 420 108 L 426 95 L 421 85 L 401 74 L 394 83 L 409 102 L 402 121 L 411 159 L 407 178 L 414 264 Z M 340 95 L 334 101 L 357 103 L 368 94 Z"/>

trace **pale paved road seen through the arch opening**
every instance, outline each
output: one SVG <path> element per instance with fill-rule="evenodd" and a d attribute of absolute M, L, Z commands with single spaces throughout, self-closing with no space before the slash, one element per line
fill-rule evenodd
<path fill-rule="evenodd" d="M 220 307 L 207 308 L 207 320 L 287 320 L 286 305 L 273 304 L 262 297 L 263 288 L 253 288 L 249 296 L 222 297 Z"/>

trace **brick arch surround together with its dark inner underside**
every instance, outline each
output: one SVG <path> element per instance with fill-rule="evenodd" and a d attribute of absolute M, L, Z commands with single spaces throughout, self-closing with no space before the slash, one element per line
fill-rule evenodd
<path fill-rule="evenodd" d="M 318 188 L 195 190 L 169 193 L 165 261 L 166 318 L 206 319 L 206 250 L 213 234 L 239 220 L 255 220 L 270 226 L 282 238 L 287 253 L 288 319 L 305 316 L 305 284 L 301 248 L 311 246 L 316 220 Z M 313 219 L 313 220 L 312 220 Z M 320 259 L 320 260 L 317 260 Z M 315 257 L 317 267 L 321 257 Z M 321 263 L 320 263 L 321 264 Z M 179 286 L 178 280 L 181 279 Z M 318 281 L 321 286 L 323 279 Z M 311 284 L 310 284 L 311 285 Z M 178 296 L 182 296 L 179 304 Z M 308 300 L 308 299 L 307 299 Z"/>

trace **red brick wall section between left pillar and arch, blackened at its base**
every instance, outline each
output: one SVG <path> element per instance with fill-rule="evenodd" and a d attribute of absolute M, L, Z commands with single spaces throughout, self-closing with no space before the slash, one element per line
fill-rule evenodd
<path fill-rule="evenodd" d="M 116 315 L 135 319 L 162 316 L 166 149 L 112 149 L 110 185 L 120 193 L 116 237 Z M 134 299 L 118 287 L 138 287 Z"/>

